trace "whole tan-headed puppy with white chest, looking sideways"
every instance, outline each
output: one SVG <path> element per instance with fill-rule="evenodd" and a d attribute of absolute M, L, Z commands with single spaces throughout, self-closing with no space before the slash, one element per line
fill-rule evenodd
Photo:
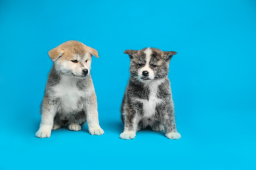
<path fill-rule="evenodd" d="M 98 52 L 78 41 L 68 41 L 48 52 L 53 60 L 41 103 L 41 124 L 36 137 L 67 126 L 81 130 L 87 121 L 91 135 L 102 135 L 98 122 L 95 88 L 90 74 L 92 56 Z"/>

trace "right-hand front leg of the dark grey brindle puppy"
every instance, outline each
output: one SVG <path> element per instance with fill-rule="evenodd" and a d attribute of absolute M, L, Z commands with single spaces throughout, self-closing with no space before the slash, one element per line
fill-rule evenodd
<path fill-rule="evenodd" d="M 175 123 L 175 113 L 173 105 L 165 105 L 162 112 L 163 126 L 165 128 L 165 136 L 169 139 L 181 139 L 181 134 L 177 131 Z"/>

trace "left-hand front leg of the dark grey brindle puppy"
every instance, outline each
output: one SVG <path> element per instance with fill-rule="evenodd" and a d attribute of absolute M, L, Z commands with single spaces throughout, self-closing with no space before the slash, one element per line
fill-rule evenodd
<path fill-rule="evenodd" d="M 142 107 L 140 106 L 140 109 Z M 125 128 L 123 133 L 121 133 L 120 138 L 121 139 L 134 139 L 136 136 L 136 131 L 138 129 L 138 123 L 139 123 L 139 115 L 137 112 L 139 112 L 139 107 L 135 103 L 131 103 L 130 100 L 127 100 L 127 103 L 125 105 Z"/>

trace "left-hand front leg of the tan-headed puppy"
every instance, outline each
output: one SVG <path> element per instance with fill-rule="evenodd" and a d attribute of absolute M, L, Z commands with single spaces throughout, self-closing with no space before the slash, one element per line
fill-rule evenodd
<path fill-rule="evenodd" d="M 39 130 L 35 133 L 35 137 L 50 137 L 53 129 L 53 119 L 56 114 L 56 101 L 44 97 L 41 114 L 41 124 Z"/>

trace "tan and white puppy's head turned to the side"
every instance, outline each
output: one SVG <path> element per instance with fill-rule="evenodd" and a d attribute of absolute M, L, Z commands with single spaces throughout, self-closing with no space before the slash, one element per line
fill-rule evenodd
<path fill-rule="evenodd" d="M 90 74 L 92 56 L 98 58 L 98 52 L 79 41 L 67 41 L 48 52 L 58 73 L 77 78 Z"/>

